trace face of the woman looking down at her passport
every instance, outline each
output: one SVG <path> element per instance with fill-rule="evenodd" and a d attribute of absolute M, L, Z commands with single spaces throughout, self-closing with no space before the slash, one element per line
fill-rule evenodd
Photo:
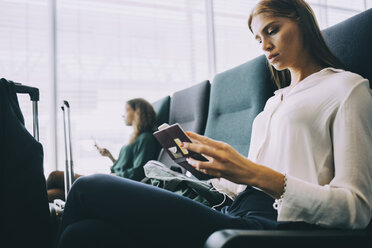
<path fill-rule="evenodd" d="M 305 53 L 298 24 L 289 18 L 258 14 L 251 28 L 255 39 L 272 66 L 278 71 L 300 66 Z"/>

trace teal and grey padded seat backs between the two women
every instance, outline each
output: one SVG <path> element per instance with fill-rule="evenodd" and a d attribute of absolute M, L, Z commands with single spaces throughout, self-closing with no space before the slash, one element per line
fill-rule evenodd
<path fill-rule="evenodd" d="M 260 56 L 232 70 L 177 91 L 153 103 L 158 123 L 179 123 L 185 130 L 204 134 L 232 145 L 248 155 L 253 119 L 273 95 L 266 58 Z M 161 151 L 158 160 L 176 166 Z"/>

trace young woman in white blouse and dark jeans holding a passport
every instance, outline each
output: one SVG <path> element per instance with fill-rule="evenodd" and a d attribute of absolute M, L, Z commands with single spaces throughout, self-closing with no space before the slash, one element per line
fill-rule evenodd
<path fill-rule="evenodd" d="M 59 247 L 202 247 L 214 231 L 365 228 L 371 219 L 372 95 L 342 70 L 303 0 L 262 0 L 249 17 L 279 90 L 253 123 L 248 158 L 189 133 L 197 169 L 237 197 L 221 210 L 133 181 L 95 175 L 72 187 Z M 230 183 L 225 183 L 230 182 Z M 110 197 L 107 191 L 121 197 Z M 94 237 L 94 238 L 92 238 Z"/>

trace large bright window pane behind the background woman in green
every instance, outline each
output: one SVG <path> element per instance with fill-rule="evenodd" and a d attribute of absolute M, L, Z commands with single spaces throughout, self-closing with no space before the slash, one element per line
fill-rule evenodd
<path fill-rule="evenodd" d="M 92 137 L 117 158 L 131 132 L 127 100 L 152 102 L 206 79 L 204 2 L 61 0 L 57 10 L 58 92 L 71 104 L 75 171 L 108 172 Z"/>

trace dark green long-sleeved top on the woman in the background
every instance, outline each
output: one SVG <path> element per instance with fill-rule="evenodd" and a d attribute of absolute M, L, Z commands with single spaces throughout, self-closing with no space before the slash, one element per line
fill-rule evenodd
<path fill-rule="evenodd" d="M 159 151 L 160 145 L 152 132 L 141 133 L 132 144 L 120 149 L 118 160 L 111 166 L 111 172 L 140 181 L 145 177 L 143 166 L 147 161 L 157 159 Z"/>

